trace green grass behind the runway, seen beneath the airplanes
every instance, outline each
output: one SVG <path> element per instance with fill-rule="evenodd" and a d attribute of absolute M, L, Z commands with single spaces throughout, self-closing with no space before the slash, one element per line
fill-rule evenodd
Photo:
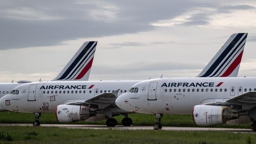
<path fill-rule="evenodd" d="M 152 126 L 155 123 L 154 114 L 129 114 L 129 117 L 132 118 L 133 126 Z M 123 115 L 115 116 L 117 119 L 118 125 L 121 124 Z M 34 114 L 32 113 L 15 113 L 15 112 L 0 112 L 0 123 L 32 123 L 34 121 Z M 54 114 L 42 114 L 40 118 L 41 124 L 63 124 L 56 120 Z M 74 122 L 70 124 L 97 124 L 97 125 L 105 125 L 106 120 L 100 122 Z M 163 126 L 174 126 L 174 127 L 200 127 L 194 124 L 192 120 L 192 116 L 187 115 L 163 115 L 162 119 Z M 243 124 L 243 125 L 227 125 L 220 124 L 211 127 L 225 127 L 225 128 L 244 128 L 250 129 L 251 124 Z"/>

